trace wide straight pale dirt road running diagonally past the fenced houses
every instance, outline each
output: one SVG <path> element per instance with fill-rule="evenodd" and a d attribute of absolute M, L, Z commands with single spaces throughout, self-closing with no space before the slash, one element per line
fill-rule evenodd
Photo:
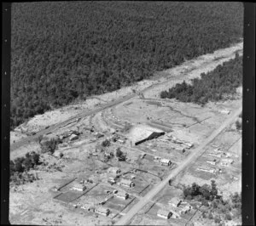
<path fill-rule="evenodd" d="M 185 159 L 185 161 L 183 161 L 177 168 L 173 169 L 167 178 L 165 178 L 159 184 L 156 184 L 154 188 L 151 189 L 142 200 L 138 201 L 137 204 L 132 206 L 131 210 L 127 212 L 122 218 L 120 218 L 119 221 L 115 223 L 115 225 L 128 225 L 131 218 L 133 218 L 137 214 L 137 212 L 139 212 L 143 208 L 143 206 L 151 201 L 154 195 L 157 195 L 161 189 L 164 189 L 170 179 L 175 178 L 179 172 L 182 172 L 186 167 L 189 167 L 199 156 L 201 156 L 206 150 L 205 147 L 207 146 L 207 144 L 210 144 L 212 140 L 224 130 L 225 127 L 229 126 L 231 122 L 235 121 L 236 117 L 239 116 L 240 113 L 241 108 L 239 108 L 232 115 L 230 115 L 229 119 L 224 121 L 224 123 L 220 127 L 218 127 L 218 129 L 213 131 L 213 133 L 207 139 L 205 139 L 205 141 L 200 146 L 193 150 L 193 152 L 191 152 L 191 154 L 188 156 L 187 159 Z"/>

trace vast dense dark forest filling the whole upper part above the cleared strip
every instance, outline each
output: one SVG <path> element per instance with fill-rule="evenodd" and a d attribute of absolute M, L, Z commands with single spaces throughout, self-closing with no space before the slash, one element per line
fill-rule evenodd
<path fill-rule="evenodd" d="M 11 128 L 226 48 L 242 25 L 242 3 L 13 3 Z"/>

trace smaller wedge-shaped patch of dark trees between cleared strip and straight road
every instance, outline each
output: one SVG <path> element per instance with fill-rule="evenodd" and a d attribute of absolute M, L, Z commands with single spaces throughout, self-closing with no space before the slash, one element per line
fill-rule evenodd
<path fill-rule="evenodd" d="M 201 78 L 192 80 L 192 84 L 177 83 L 168 91 L 162 91 L 160 98 L 178 99 L 183 102 L 194 102 L 204 105 L 208 101 L 223 99 L 227 94 L 236 93 L 236 88 L 242 83 L 242 57 L 236 54 L 235 59 L 218 65 L 207 74 L 202 73 Z"/>

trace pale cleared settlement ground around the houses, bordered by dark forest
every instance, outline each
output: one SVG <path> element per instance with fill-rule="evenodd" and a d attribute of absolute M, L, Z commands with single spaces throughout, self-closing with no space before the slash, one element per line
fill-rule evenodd
<path fill-rule="evenodd" d="M 215 178 L 223 194 L 228 195 L 234 185 L 239 191 L 241 177 L 236 177 L 238 180 L 228 177 L 241 175 L 241 133 L 236 130 L 235 124 L 232 124 L 241 111 L 241 93 L 237 93 L 236 99 L 208 103 L 204 107 L 172 99 L 159 99 L 156 94 L 160 89 L 165 89 L 168 82 L 168 86 L 172 86 L 180 82 L 180 77 L 187 79 L 191 74 L 200 76 L 201 72 L 212 70 L 215 64 L 235 57 L 236 50 L 241 48 L 242 45 L 239 43 L 220 50 L 217 54 L 214 53 L 215 55 L 202 56 L 191 60 L 190 64 L 186 62 L 177 66 L 173 69 L 172 75 L 166 74 L 155 80 L 138 82 L 130 88 L 122 88 L 118 91 L 120 99 L 115 99 L 112 103 L 117 92 L 95 97 L 95 105 L 87 105 L 87 100 L 85 103 L 69 106 L 70 112 L 67 110 L 68 107 L 63 108 L 67 119 L 70 118 L 68 120 L 58 121 L 61 118 L 61 111 L 56 110 L 49 111 L 47 115 L 36 116 L 38 124 L 34 118 L 32 122 L 28 121 L 26 125 L 22 125 L 28 132 L 35 130 L 37 134 L 28 136 L 25 141 L 20 138 L 20 142 L 11 144 L 11 159 L 25 155 L 30 150 L 39 152 L 40 145 L 34 139 L 40 134 L 49 133 L 47 136 L 54 137 L 61 136 L 68 130 L 76 130 L 80 134 L 78 139 L 73 141 L 70 141 L 69 137 L 63 138 L 63 143 L 58 144 L 54 155 L 42 155 L 44 162 L 48 163 L 35 169 L 39 180 L 10 189 L 11 223 L 106 225 L 126 224 L 131 221 L 132 224 L 181 225 L 179 223 L 194 221 L 192 212 L 179 220 L 166 221 L 156 216 L 157 210 L 167 205 L 166 201 L 181 194 L 180 189 L 177 189 L 178 184 L 190 184 L 192 181 L 189 178 L 192 177 L 195 178 L 195 182 L 201 183 Z M 213 60 L 214 57 L 221 55 L 224 58 Z M 186 72 L 189 65 L 190 71 Z M 133 88 L 137 93 L 133 93 Z M 139 93 L 144 94 L 144 99 Z M 107 104 L 99 99 L 105 99 Z M 90 101 L 92 103 L 93 100 Z M 102 105 L 97 105 L 98 103 Z M 229 109 L 230 114 L 219 112 L 223 109 Z M 49 122 L 48 116 L 51 119 Z M 54 126 L 41 130 L 53 121 L 56 123 Z M 138 124 L 166 129 L 166 134 L 143 144 L 131 146 L 126 135 L 129 127 L 136 127 Z M 90 132 L 91 127 L 94 127 L 94 132 Z M 127 127 L 128 131 L 125 131 Z M 111 141 L 110 146 L 101 151 L 100 144 L 106 138 L 112 139 L 113 132 L 119 136 L 118 140 Z M 173 137 L 193 146 L 188 147 L 186 144 L 174 142 Z M 216 144 L 225 153 L 231 154 L 230 158 L 234 159 L 234 163 L 222 166 L 219 161 L 215 168 L 223 168 L 221 174 L 197 171 L 198 167 L 211 167 L 207 161 L 212 161 L 214 157 L 208 154 L 213 153 Z M 119 161 L 116 157 L 118 147 L 125 153 L 126 161 Z M 60 153 L 63 154 L 62 158 Z M 114 156 L 106 160 L 105 155 L 110 153 Z M 165 166 L 155 160 L 155 157 L 169 159 L 172 164 Z M 61 167 L 61 170 L 58 167 Z M 108 182 L 109 178 L 116 176 L 109 172 L 111 167 L 120 169 L 119 177 L 113 185 Z M 67 184 L 73 178 L 75 181 Z M 176 187 L 166 186 L 171 178 L 176 178 L 173 181 Z M 134 187 L 122 185 L 121 181 L 124 179 L 133 182 Z M 86 189 L 83 192 L 71 190 L 73 184 L 80 181 L 85 181 Z M 61 185 L 65 186 L 56 190 Z M 129 198 L 122 200 L 116 197 L 113 195 L 115 189 L 129 194 Z M 163 193 L 159 193 L 162 189 Z M 163 195 L 159 196 L 160 194 Z M 56 195 L 60 195 L 59 201 L 54 199 Z M 104 203 L 100 204 L 102 202 Z M 101 206 L 108 208 L 110 214 L 103 216 L 83 209 L 82 206 Z M 143 221 L 139 221 L 141 216 Z M 196 216 L 195 214 L 195 218 Z"/>

